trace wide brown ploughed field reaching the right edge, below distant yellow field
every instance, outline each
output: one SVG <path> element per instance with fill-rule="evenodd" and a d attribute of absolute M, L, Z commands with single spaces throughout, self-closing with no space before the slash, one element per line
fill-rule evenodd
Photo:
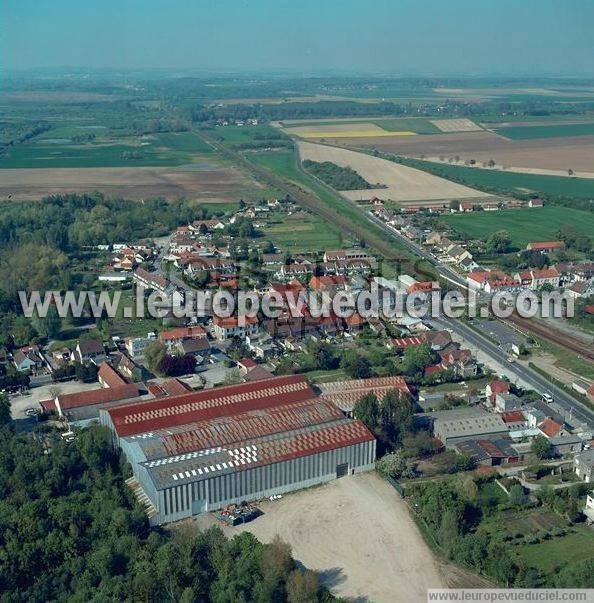
<path fill-rule="evenodd" d="M 474 159 L 479 163 L 493 159 L 509 171 L 513 168 L 594 172 L 594 136 L 557 137 L 532 140 L 509 140 L 494 132 L 459 132 L 454 134 L 411 137 L 359 137 L 330 138 L 326 141 L 337 146 L 378 149 L 419 157 L 458 155 L 462 161 Z"/>

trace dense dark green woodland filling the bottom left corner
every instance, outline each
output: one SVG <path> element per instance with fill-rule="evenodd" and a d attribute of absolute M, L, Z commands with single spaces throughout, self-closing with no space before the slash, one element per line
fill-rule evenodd
<path fill-rule="evenodd" d="M 5 414 L 0 397 L 0 421 Z M 0 428 L 0 584 L 10 600 L 329 601 L 279 539 L 155 531 L 109 432 Z"/>

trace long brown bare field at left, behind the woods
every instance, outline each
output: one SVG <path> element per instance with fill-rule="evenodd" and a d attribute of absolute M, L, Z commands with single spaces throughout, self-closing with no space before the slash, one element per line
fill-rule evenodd
<path fill-rule="evenodd" d="M 61 193 L 100 191 L 127 199 L 199 197 L 234 201 L 260 185 L 239 170 L 214 163 L 180 167 L 39 168 L 0 170 L 0 200 L 31 201 Z"/>

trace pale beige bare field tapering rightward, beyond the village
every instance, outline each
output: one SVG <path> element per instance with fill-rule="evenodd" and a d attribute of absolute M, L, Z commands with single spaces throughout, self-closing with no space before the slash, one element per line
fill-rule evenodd
<path fill-rule="evenodd" d="M 299 142 L 298 145 L 301 159 L 331 161 L 342 167 L 351 167 L 367 182 L 378 182 L 387 187 L 341 193 L 345 198 L 354 201 L 376 196 L 380 199 L 414 204 L 419 201 L 436 202 L 489 196 L 487 193 L 444 180 L 421 170 L 399 165 L 387 159 L 372 157 L 365 153 L 311 142 Z"/>

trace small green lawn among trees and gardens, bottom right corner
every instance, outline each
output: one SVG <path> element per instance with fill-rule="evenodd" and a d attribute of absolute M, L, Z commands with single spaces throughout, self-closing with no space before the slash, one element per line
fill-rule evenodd
<path fill-rule="evenodd" d="M 579 525 L 566 536 L 539 544 L 518 546 L 516 553 L 527 565 L 536 567 L 544 573 L 551 573 L 558 567 L 594 557 L 592 541 L 592 530 Z"/>

